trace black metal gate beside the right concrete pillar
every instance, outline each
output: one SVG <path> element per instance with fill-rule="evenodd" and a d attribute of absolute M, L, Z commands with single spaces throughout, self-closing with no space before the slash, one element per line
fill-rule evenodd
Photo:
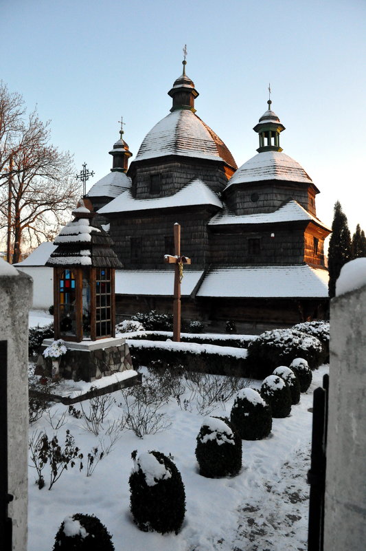
<path fill-rule="evenodd" d="M 312 410 L 308 551 L 323 551 L 328 389 L 329 375 L 324 375 L 323 388 L 314 390 Z"/>

